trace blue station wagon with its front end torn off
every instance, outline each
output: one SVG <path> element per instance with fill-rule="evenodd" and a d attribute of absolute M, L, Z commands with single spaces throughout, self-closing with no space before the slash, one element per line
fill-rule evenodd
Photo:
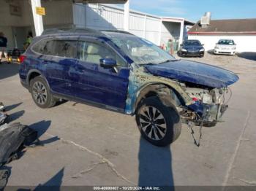
<path fill-rule="evenodd" d="M 157 146 L 175 141 L 181 122 L 218 122 L 227 87 L 238 80 L 124 31 L 48 30 L 20 61 L 21 84 L 37 106 L 61 98 L 135 115 L 142 136 Z"/>

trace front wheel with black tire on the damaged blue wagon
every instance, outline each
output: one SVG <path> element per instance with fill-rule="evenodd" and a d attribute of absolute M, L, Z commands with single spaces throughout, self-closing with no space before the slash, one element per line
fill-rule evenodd
<path fill-rule="evenodd" d="M 173 143 L 181 134 L 181 122 L 176 108 L 165 106 L 157 97 L 146 98 L 139 104 L 136 122 L 143 138 L 159 147 Z"/>

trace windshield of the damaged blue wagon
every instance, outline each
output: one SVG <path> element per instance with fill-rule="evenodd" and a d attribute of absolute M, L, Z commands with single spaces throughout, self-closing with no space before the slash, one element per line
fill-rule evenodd
<path fill-rule="evenodd" d="M 118 36 L 110 38 L 125 54 L 138 64 L 158 64 L 167 61 L 176 61 L 173 56 L 137 36 Z"/>

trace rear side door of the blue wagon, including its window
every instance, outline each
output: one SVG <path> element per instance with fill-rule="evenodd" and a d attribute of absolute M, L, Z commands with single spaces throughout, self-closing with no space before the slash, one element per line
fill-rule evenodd
<path fill-rule="evenodd" d="M 74 66 L 77 63 L 77 37 L 56 37 L 45 43 L 42 51 L 42 67 L 50 89 L 54 93 L 75 96 Z"/>

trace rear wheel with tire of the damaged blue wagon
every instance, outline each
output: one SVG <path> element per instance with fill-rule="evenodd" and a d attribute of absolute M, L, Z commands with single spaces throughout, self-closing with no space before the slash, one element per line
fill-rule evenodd
<path fill-rule="evenodd" d="M 41 76 L 35 77 L 30 81 L 30 91 L 34 103 L 40 108 L 50 108 L 56 104 L 56 98 L 50 93 L 50 87 Z"/>

